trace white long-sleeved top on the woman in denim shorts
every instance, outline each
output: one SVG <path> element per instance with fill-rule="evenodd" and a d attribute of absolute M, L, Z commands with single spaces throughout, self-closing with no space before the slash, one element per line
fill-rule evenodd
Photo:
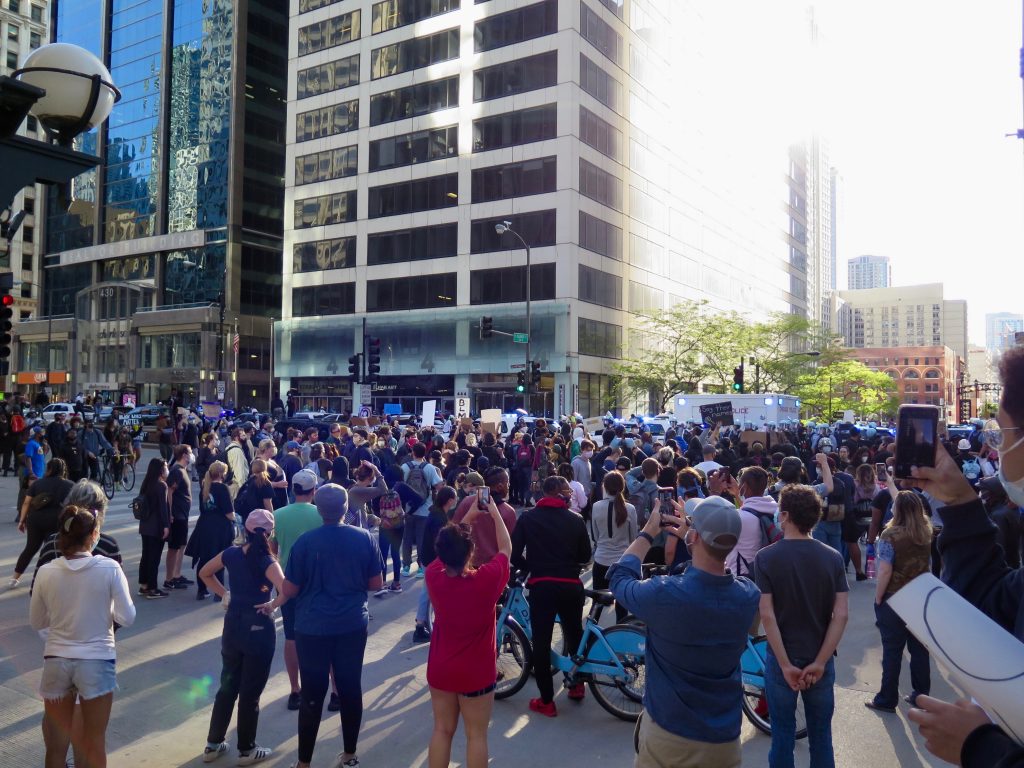
<path fill-rule="evenodd" d="M 43 655 L 115 658 L 114 622 L 135 621 L 128 580 L 109 557 L 58 557 L 36 575 L 29 606 L 34 630 L 49 630 Z"/>

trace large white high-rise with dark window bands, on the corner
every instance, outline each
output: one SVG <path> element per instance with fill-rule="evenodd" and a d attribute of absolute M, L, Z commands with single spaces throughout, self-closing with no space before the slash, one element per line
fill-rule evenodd
<path fill-rule="evenodd" d="M 282 389 L 330 410 L 522 406 L 525 345 L 478 332 L 526 331 L 502 221 L 531 247 L 534 413 L 626 407 L 637 312 L 809 311 L 786 144 L 719 140 L 701 25 L 675 0 L 292 0 Z M 352 391 L 365 333 L 380 381 Z"/>

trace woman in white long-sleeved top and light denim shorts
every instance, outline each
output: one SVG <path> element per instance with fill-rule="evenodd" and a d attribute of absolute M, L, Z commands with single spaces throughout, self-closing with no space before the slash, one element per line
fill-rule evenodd
<path fill-rule="evenodd" d="M 46 768 L 65 765 L 76 693 L 84 727 L 74 732 L 75 751 L 86 765 L 106 766 L 106 724 L 117 688 L 114 623 L 130 626 L 135 606 L 121 566 L 92 554 L 102 521 L 103 510 L 66 507 L 57 531 L 63 557 L 39 569 L 32 592 L 29 622 L 46 634 L 39 684 Z"/>

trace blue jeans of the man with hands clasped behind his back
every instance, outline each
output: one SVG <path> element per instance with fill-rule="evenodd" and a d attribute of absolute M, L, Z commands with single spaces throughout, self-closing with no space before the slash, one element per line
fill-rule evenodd
<path fill-rule="evenodd" d="M 813 659 L 791 659 L 800 668 Z M 814 685 L 799 695 L 804 698 L 807 717 L 807 740 L 811 751 L 811 768 L 836 768 L 831 743 L 831 717 L 836 710 L 836 663 L 829 658 L 825 674 Z M 765 659 L 765 695 L 771 717 L 771 750 L 768 752 L 769 768 L 793 768 L 793 750 L 797 740 L 797 695 L 782 677 L 778 660 L 768 649 Z"/>

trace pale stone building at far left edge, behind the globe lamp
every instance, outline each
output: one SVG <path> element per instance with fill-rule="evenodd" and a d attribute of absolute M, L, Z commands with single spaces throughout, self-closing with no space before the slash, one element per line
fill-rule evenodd
<path fill-rule="evenodd" d="M 0 75 L 11 75 L 28 55 L 48 39 L 49 6 L 46 0 L 0 0 Z M 28 117 L 19 135 L 43 138 L 34 117 Z M 0 270 L 14 273 L 14 321 L 29 319 L 36 311 L 35 273 L 39 265 L 40 227 L 36 211 L 42 187 L 27 186 L 10 205 L 10 216 L 24 211 L 25 217 L 9 241 L 0 239 Z M 17 284 L 20 285 L 17 285 Z M 9 389 L 9 385 L 0 389 Z"/>

